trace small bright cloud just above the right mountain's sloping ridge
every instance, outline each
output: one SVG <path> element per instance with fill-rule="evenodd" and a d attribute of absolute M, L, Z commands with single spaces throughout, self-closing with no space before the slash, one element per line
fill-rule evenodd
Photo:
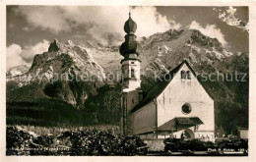
<path fill-rule="evenodd" d="M 227 42 L 224 39 L 224 33 L 221 31 L 221 28 L 218 28 L 216 25 L 206 25 L 206 27 L 202 27 L 196 21 L 193 21 L 189 25 L 189 28 L 198 29 L 209 37 L 217 38 L 224 46 L 227 45 Z"/>

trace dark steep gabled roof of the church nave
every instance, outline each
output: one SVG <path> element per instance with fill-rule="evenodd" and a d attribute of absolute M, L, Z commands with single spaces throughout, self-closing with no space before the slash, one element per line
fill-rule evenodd
<path fill-rule="evenodd" d="M 166 75 L 166 77 L 171 77 L 171 78 L 165 79 L 165 80 L 162 79 L 161 81 L 157 82 L 152 88 L 150 88 L 150 90 L 146 93 L 143 100 L 136 107 L 134 107 L 132 111 L 135 112 L 139 110 L 140 108 L 142 108 L 143 106 L 147 105 L 148 103 L 153 101 L 155 98 L 157 98 L 160 95 L 160 93 L 164 90 L 164 88 L 168 85 L 168 83 L 172 81 L 176 73 L 180 70 L 180 68 L 184 64 L 186 64 L 186 66 L 189 68 L 192 74 L 196 76 L 195 71 L 191 68 L 188 62 L 186 60 L 183 60 L 176 68 L 174 68 L 172 71 L 169 72 L 169 75 Z"/>

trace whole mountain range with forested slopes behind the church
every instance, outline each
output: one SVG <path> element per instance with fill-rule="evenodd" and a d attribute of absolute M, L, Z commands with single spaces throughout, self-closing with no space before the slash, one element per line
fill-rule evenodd
<path fill-rule="evenodd" d="M 248 52 L 232 53 L 217 38 L 196 29 L 169 29 L 142 37 L 137 51 L 142 61 L 144 92 L 156 83 L 156 72 L 164 75 L 186 59 L 215 99 L 216 129 L 230 133 L 236 126 L 248 127 Z M 60 43 L 54 39 L 48 51 L 34 56 L 30 68 L 19 66 L 7 72 L 7 102 L 54 98 L 92 112 L 96 122 L 100 121 L 97 117 L 100 112 L 115 113 L 117 124 L 120 83 L 119 79 L 109 80 L 109 76 L 116 78 L 120 74 L 121 59 L 119 46 L 92 41 L 76 45 L 71 40 Z M 202 78 L 211 74 L 230 77 L 237 72 L 245 74 L 244 81 Z"/>

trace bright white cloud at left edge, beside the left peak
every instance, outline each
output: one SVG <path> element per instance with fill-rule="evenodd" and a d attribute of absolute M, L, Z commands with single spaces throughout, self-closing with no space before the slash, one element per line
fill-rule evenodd
<path fill-rule="evenodd" d="M 24 48 L 19 44 L 9 45 L 7 47 L 7 70 L 20 65 L 31 66 L 33 56 L 47 51 L 48 47 L 49 41 L 47 40 L 42 40 L 42 42 Z"/>

